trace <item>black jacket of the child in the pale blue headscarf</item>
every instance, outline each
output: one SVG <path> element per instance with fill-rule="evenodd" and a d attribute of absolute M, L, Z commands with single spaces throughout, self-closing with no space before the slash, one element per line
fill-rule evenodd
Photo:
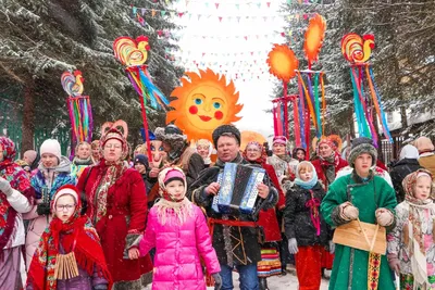
<path fill-rule="evenodd" d="M 320 215 L 320 204 L 326 196 L 320 182 L 312 189 L 314 199 L 319 201 L 318 214 Z M 327 245 L 332 239 L 330 226 L 320 215 L 320 236 L 311 220 L 311 207 L 307 206 L 307 202 L 311 200 L 310 190 L 303 189 L 295 185 L 286 194 L 286 206 L 284 210 L 284 225 L 287 239 L 296 238 L 298 247 L 306 245 Z"/>

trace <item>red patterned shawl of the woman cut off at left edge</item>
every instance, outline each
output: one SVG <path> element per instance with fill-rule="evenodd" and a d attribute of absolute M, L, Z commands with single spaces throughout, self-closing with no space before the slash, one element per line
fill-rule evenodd
<path fill-rule="evenodd" d="M 0 137 L 3 148 L 3 160 L 0 160 L 0 177 L 7 179 L 13 189 L 23 193 L 29 201 L 33 200 L 34 190 L 26 172 L 16 163 L 15 146 L 11 139 Z M 7 197 L 0 191 L 0 250 L 8 245 L 15 227 L 16 211 L 9 204 Z M 0 253 L 0 257 L 2 251 Z"/>

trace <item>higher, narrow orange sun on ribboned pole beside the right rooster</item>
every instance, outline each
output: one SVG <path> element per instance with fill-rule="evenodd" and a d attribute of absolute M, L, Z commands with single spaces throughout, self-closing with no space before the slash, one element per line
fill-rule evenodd
<path fill-rule="evenodd" d="M 323 83 L 324 73 L 311 71 L 312 64 L 319 60 L 319 53 L 325 38 L 325 20 L 321 15 L 315 14 L 310 20 L 304 35 L 303 51 L 308 61 L 308 70 L 297 72 L 299 97 L 301 99 L 300 111 L 304 115 L 304 138 L 307 144 L 310 143 L 310 118 L 312 118 L 318 138 L 325 133 L 324 117 L 326 114 L 326 101 Z"/>

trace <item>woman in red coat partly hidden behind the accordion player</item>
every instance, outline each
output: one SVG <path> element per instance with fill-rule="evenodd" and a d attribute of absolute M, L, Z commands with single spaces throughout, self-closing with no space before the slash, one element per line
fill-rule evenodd
<path fill-rule="evenodd" d="M 265 169 L 269 178 L 278 191 L 278 202 L 276 203 L 276 207 L 283 210 L 285 207 L 284 192 L 281 189 L 275 169 L 272 165 L 265 163 L 268 155 L 265 154 L 263 147 L 256 141 L 249 142 L 245 148 L 244 157 L 252 164 L 261 165 Z M 261 247 L 261 261 L 257 265 L 257 274 L 260 280 L 260 290 L 265 290 L 269 289 L 266 278 L 281 274 L 281 261 L 277 244 L 273 243 L 281 241 L 281 230 L 275 209 L 260 211 L 258 225 L 264 230 L 264 243 Z"/>

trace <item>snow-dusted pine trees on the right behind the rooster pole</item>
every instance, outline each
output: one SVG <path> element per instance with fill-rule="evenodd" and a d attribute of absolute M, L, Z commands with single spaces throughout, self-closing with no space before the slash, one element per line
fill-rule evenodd
<path fill-rule="evenodd" d="M 347 33 L 373 34 L 376 47 L 370 60 L 386 111 L 433 108 L 435 88 L 435 43 L 433 0 L 323 0 L 300 4 L 288 1 L 283 7 L 288 15 L 320 13 L 326 18 L 326 37 L 320 53 L 319 66 L 326 73 L 327 129 L 326 133 L 345 134 L 353 117 L 352 88 L 348 64 L 340 52 L 340 39 Z M 315 1 L 311 1 L 315 2 Z M 293 30 L 288 42 L 303 58 L 303 28 L 290 18 L 287 29 Z M 307 27 L 303 22 L 302 26 Z M 297 29 L 299 28 L 299 29 Z M 296 42 L 295 42 L 296 39 Z M 303 62 L 301 63 L 303 67 Z M 406 129 L 407 124 L 402 124 Z M 423 126 L 424 134 L 435 129 L 434 123 Z"/>

